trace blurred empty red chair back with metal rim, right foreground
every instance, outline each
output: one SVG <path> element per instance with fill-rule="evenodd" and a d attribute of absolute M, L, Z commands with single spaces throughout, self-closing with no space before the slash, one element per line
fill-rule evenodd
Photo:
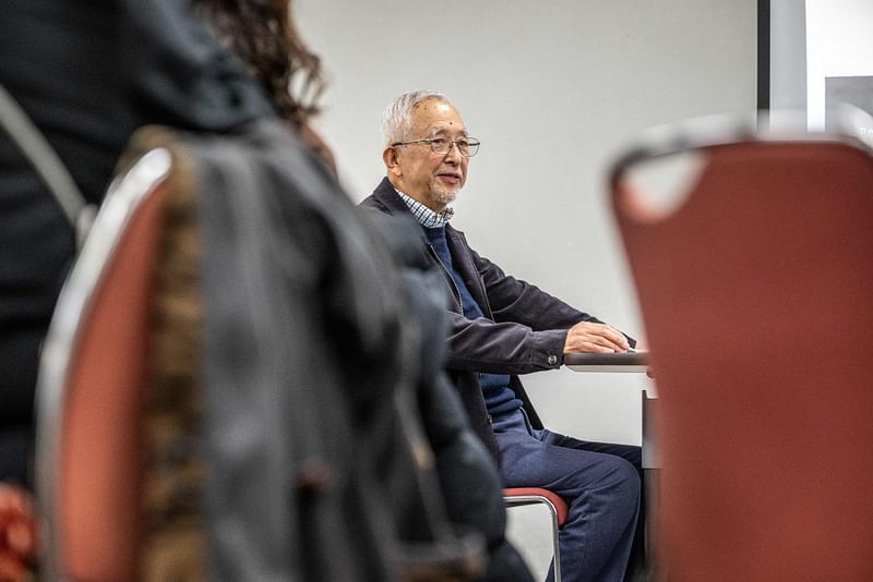
<path fill-rule="evenodd" d="M 611 172 L 659 397 L 659 574 L 873 580 L 873 157 L 701 128 Z"/>

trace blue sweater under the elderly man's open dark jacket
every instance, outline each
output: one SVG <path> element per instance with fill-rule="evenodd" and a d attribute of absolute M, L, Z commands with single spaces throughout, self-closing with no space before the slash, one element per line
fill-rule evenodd
<path fill-rule="evenodd" d="M 461 306 L 467 319 L 485 317 L 482 308 L 473 299 L 469 289 L 464 283 L 464 279 L 458 275 L 452 264 L 452 254 L 449 252 L 449 243 L 445 240 L 445 227 L 426 228 L 424 234 L 431 246 L 436 252 L 436 256 L 445 267 L 445 270 L 455 281 L 458 294 L 461 295 Z M 482 387 L 482 396 L 488 413 L 492 416 L 503 414 L 522 407 L 522 401 L 515 398 L 515 392 L 510 388 L 510 376 L 507 374 L 479 374 L 479 385 Z"/>

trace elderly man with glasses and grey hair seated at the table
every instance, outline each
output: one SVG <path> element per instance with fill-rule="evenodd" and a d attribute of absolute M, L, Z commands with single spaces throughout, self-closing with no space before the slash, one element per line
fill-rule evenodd
<path fill-rule="evenodd" d="M 633 339 L 533 284 L 467 244 L 449 220 L 479 149 L 440 93 L 398 97 L 383 118 L 387 177 L 361 205 L 409 216 L 452 298 L 446 368 L 507 487 L 551 489 L 570 502 L 561 532 L 566 581 L 621 581 L 639 545 L 638 447 L 584 442 L 543 428 L 518 374 L 561 366 L 567 352 L 624 352 Z"/>

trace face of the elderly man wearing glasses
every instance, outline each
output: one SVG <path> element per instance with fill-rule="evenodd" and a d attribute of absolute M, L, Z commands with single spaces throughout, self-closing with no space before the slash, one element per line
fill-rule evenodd
<path fill-rule="evenodd" d="M 408 141 L 467 137 L 457 110 L 441 101 L 421 101 L 412 111 L 411 121 Z M 427 143 L 395 146 L 386 148 L 383 158 L 392 184 L 435 211 L 454 202 L 467 180 L 469 158 L 462 156 L 456 146 L 447 154 L 434 154 Z"/>

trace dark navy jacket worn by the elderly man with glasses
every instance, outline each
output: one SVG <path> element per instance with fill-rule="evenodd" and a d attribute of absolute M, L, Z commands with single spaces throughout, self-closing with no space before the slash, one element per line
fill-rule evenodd
<path fill-rule="evenodd" d="M 371 211 L 411 216 L 387 178 L 360 205 Z M 445 367 L 461 393 L 474 429 L 499 459 L 477 373 L 509 374 L 510 387 L 524 402 L 531 425 L 541 428 L 542 423 L 518 374 L 560 367 L 567 329 L 578 322 L 601 322 L 536 286 L 506 275 L 470 248 L 464 233 L 451 225 L 446 226 L 446 240 L 453 265 L 485 317 L 464 317 L 457 291 L 446 271 L 446 290 L 454 301 Z M 421 244 L 431 259 L 439 263 L 423 231 Z"/>

